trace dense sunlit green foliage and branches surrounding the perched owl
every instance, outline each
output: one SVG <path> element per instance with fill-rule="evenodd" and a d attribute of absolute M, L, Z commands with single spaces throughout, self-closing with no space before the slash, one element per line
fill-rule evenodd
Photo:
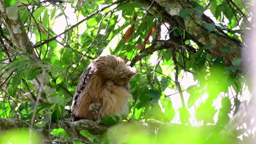
<path fill-rule="evenodd" d="M 30 42 L 21 45 L 22 37 L 14 39 L 12 34 L 19 29 L 10 29 L 8 22 L 12 21 L 0 16 L 1 118 L 35 120 L 39 130 L 50 123 L 71 121 L 69 109 L 79 77 L 103 54 L 131 61 L 139 71 L 130 82 L 133 101 L 127 121 L 188 125 L 175 129 L 177 133 L 162 130 L 164 136 L 173 136 L 165 140 L 156 133 L 154 140 L 159 143 L 217 141 L 242 101 L 250 99 L 241 53 L 247 49 L 245 33 L 255 24 L 251 23 L 253 2 L 0 1 L 0 9 L 7 15 L 11 11 L 9 19 L 18 12 L 23 38 L 32 43 L 32 50 Z M 115 119 L 109 116 L 106 123 Z M 253 133 L 246 132 L 252 129 L 252 117 L 246 119 L 247 126 L 232 131 L 230 139 L 253 138 Z M 133 126 L 120 129 L 134 135 L 115 140 L 152 142 L 148 131 L 140 135 Z M 190 126 L 210 130 L 194 133 Z M 182 139 L 184 131 L 186 140 Z M 66 134 L 61 129 L 51 133 Z M 100 139 L 88 131 L 80 133 L 90 141 Z M 115 131 L 110 135 L 116 136 Z"/>

